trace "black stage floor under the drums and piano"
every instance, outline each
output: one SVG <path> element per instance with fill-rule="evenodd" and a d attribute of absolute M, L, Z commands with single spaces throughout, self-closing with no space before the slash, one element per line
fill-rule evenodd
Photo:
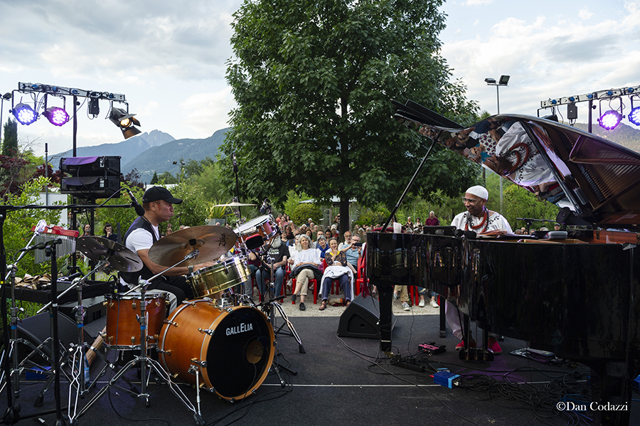
<path fill-rule="evenodd" d="M 315 309 L 310 305 L 309 309 Z M 331 310 L 331 309 L 330 309 Z M 342 311 L 342 309 L 340 309 Z M 291 336 L 277 336 L 279 363 L 297 374 L 282 373 L 284 388 L 274 373 L 269 373 L 255 395 L 230 403 L 212 393 L 201 393 L 202 418 L 206 425 L 589 425 L 590 412 L 555 410 L 558 403 L 580 403 L 577 394 L 588 388 L 585 366 L 547 366 L 508 352 L 526 347 L 523 341 L 501 342 L 503 354 L 492 363 L 459 361 L 454 350 L 458 341 L 450 336 L 438 339 L 438 316 L 416 314 L 398 316 L 393 331 L 394 352 L 401 357 L 415 356 L 418 365 L 437 362 L 435 367 L 452 373 L 474 376 L 464 379 L 466 386 L 454 389 L 435 385 L 430 372 L 420 373 L 390 365 L 378 353 L 375 339 L 338 338 L 340 311 L 334 316 L 291 318 L 302 338 L 306 353 L 299 353 Z M 88 324 L 95 336 L 105 325 L 105 318 Z M 447 351 L 432 357 L 418 356 L 417 345 L 434 341 L 446 345 Z M 111 352 L 113 353 L 113 352 Z M 424 361 L 424 363 L 421 363 Z M 102 368 L 98 360 L 91 366 L 92 379 Z M 102 386 L 112 373 L 100 381 Z M 135 381 L 135 371 L 129 378 Z M 518 383 L 529 384 L 518 384 Z M 120 383 L 124 385 L 124 383 Z M 21 382 L 21 416 L 33 416 L 54 408 L 53 388 L 41 408 L 33 401 L 41 382 Z M 191 403 L 196 391 L 181 386 Z M 150 407 L 144 400 L 112 388 L 78 419 L 80 425 L 196 425 L 193 415 L 164 386 L 151 384 Z M 80 400 L 78 410 L 95 395 L 92 390 Z M 68 405 L 68 383 L 62 383 L 63 407 Z M 640 399 L 634 393 L 634 399 Z M 5 393 L 1 403 L 6 405 Z M 587 403 L 588 404 L 588 403 Z M 640 403 L 633 403 L 631 425 L 640 425 Z M 63 410 L 63 412 L 67 412 Z M 54 425 L 55 414 L 39 415 Z M 22 418 L 18 424 L 33 424 L 37 417 Z M 68 420 L 65 424 L 69 424 Z"/>

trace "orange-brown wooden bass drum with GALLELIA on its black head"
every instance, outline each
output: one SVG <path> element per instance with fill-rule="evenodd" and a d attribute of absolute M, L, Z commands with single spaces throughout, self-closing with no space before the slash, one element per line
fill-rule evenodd
<path fill-rule="evenodd" d="M 253 307 L 219 309 L 209 300 L 184 302 L 160 333 L 160 362 L 172 375 L 196 384 L 188 373 L 195 358 L 200 383 L 225 400 L 245 398 L 267 377 L 274 356 L 267 316 Z"/>

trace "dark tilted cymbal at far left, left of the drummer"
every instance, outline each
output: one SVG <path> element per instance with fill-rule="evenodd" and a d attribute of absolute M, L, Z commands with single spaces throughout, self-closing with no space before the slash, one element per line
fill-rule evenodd
<path fill-rule="evenodd" d="M 136 272 L 144 266 L 137 253 L 108 238 L 86 235 L 75 241 L 75 247 L 94 262 L 100 260 L 109 262 L 107 269 Z"/>

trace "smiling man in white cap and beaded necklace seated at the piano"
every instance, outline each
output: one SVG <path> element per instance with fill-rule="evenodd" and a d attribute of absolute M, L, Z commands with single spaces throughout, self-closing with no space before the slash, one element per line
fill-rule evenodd
<path fill-rule="evenodd" d="M 509 223 L 503 215 L 486 208 L 485 204 L 487 199 L 489 199 L 489 192 L 486 191 L 484 186 L 471 186 L 471 188 L 466 190 L 462 198 L 466 211 L 456 215 L 451 224 L 458 229 L 473 230 L 479 234 L 492 230 L 504 230 L 511 233 L 511 226 L 509 226 Z M 462 340 L 462 313 L 448 300 L 445 304 L 445 311 L 447 314 L 447 322 L 454 336 Z M 476 346 L 476 342 L 473 340 L 473 337 L 469 337 L 471 339 L 469 347 L 473 348 Z M 496 355 L 502 353 L 502 348 L 496 341 L 496 336 L 489 335 L 488 346 Z M 456 350 L 459 351 L 463 347 L 464 341 L 461 341 L 458 346 L 456 346 Z"/>

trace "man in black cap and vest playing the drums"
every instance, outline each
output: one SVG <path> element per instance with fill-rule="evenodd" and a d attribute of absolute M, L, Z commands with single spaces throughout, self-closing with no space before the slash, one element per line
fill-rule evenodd
<path fill-rule="evenodd" d="M 138 272 L 120 273 L 121 278 L 130 287 L 137 284 L 139 277 L 149 279 L 166 270 L 166 267 L 149 259 L 149 249 L 160 239 L 158 225 L 171 219 L 171 216 L 174 215 L 174 204 L 180 203 L 182 203 L 180 198 L 174 198 L 166 188 L 161 186 L 147 189 L 142 196 L 144 215 L 134 220 L 124 235 L 124 245 L 132 252 L 137 253 L 144 263 L 142 270 Z M 193 298 L 193 290 L 184 275 L 192 272 L 193 269 L 198 270 L 211 265 L 213 265 L 213 260 L 190 267 L 176 266 L 154 279 L 149 284 L 149 289 L 159 289 L 173 294 L 174 297 L 169 298 L 171 300 L 169 311 L 171 311 L 183 300 Z"/>

